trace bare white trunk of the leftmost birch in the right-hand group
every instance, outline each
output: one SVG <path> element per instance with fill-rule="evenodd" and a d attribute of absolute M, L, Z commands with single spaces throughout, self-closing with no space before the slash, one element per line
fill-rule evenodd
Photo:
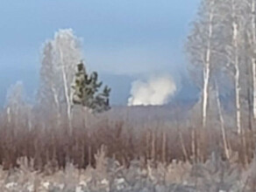
<path fill-rule="evenodd" d="M 211 55 L 211 38 L 212 38 L 212 21 L 213 21 L 213 12 L 210 12 L 210 19 L 209 19 L 209 33 L 208 33 L 208 45 L 205 55 L 205 64 L 203 69 L 203 127 L 206 126 L 206 119 L 207 119 L 207 106 L 208 106 L 208 98 L 209 98 L 209 83 L 210 83 L 210 55 Z"/>

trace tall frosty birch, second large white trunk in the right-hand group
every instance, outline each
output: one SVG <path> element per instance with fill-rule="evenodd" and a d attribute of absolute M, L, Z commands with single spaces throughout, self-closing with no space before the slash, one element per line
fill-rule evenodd
<path fill-rule="evenodd" d="M 225 0 L 222 8 L 226 12 L 226 17 L 223 19 L 224 29 L 220 35 L 226 37 L 223 42 L 225 47 L 224 54 L 226 55 L 227 68 L 226 72 L 231 75 L 234 82 L 235 91 L 235 108 L 236 108 L 236 127 L 238 134 L 242 132 L 241 125 L 241 71 L 245 68 L 245 1 L 244 0 Z"/>

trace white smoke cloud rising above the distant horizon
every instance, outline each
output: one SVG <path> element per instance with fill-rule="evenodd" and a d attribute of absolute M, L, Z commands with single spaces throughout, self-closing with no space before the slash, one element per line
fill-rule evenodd
<path fill-rule="evenodd" d="M 160 106 L 167 104 L 176 91 L 174 80 L 170 76 L 161 76 L 137 80 L 132 83 L 128 106 Z"/>

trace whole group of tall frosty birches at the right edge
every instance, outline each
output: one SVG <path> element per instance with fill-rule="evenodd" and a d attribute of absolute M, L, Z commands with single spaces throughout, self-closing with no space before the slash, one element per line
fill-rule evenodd
<path fill-rule="evenodd" d="M 203 0 L 188 36 L 189 71 L 202 90 L 202 127 L 208 126 L 210 97 L 230 93 L 238 134 L 256 120 L 255 0 Z M 223 121 L 223 113 L 219 119 Z M 224 123 L 224 122 L 223 122 Z"/>

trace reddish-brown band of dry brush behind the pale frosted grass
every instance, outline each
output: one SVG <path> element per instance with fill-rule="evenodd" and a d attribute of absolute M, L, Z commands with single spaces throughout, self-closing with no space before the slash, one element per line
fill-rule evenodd
<path fill-rule="evenodd" d="M 162 162 L 173 160 L 207 161 L 212 152 L 223 160 L 238 154 L 238 162 L 248 166 L 254 155 L 255 134 L 246 130 L 236 134 L 225 130 L 227 147 L 221 129 L 186 126 L 179 123 L 149 123 L 139 127 L 127 120 L 109 120 L 103 116 L 74 120 L 72 133 L 68 122 L 32 120 L 29 127 L 19 120 L 8 122 L 2 115 L 0 123 L 0 164 L 5 169 L 17 167 L 18 159 L 27 157 L 34 168 L 65 168 L 73 163 L 77 168 L 95 166 L 94 154 L 104 146 L 107 157 L 129 167 L 132 160 Z M 93 120 L 91 120 L 93 119 Z M 93 123 L 92 123 L 93 121 Z M 20 123 L 19 123 L 20 122 Z M 192 125 L 192 123 L 191 123 Z M 227 157 L 226 150 L 230 156 Z"/>

